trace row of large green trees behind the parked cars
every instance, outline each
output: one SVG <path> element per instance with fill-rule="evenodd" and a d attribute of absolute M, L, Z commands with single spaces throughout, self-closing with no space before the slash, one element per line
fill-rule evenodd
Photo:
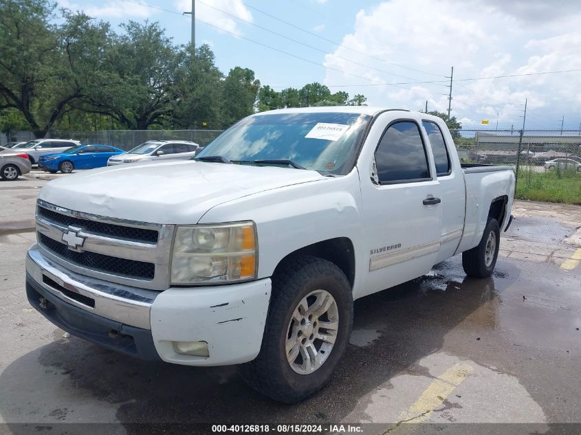
<path fill-rule="evenodd" d="M 361 105 L 318 82 L 275 91 L 252 69 L 224 76 L 208 45 L 178 46 L 158 23 L 120 32 L 49 0 L 0 2 L 0 129 L 167 129 L 227 126 L 282 107 Z"/>

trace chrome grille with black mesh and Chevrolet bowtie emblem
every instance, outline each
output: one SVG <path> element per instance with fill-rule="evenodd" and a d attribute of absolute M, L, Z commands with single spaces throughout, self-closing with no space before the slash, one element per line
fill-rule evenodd
<path fill-rule="evenodd" d="M 174 225 L 113 219 L 37 201 L 36 232 L 45 256 L 79 274 L 123 285 L 168 288 L 173 230 Z M 67 241 L 71 232 L 80 243 Z"/>

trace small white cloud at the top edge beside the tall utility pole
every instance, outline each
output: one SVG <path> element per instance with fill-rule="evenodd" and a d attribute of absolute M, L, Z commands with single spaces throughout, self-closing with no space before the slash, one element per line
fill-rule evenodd
<path fill-rule="evenodd" d="M 190 0 L 177 1 L 177 10 L 189 11 L 191 8 L 192 2 Z M 234 16 L 243 21 L 252 22 L 252 13 L 241 0 L 204 0 L 204 3 L 201 3 L 201 1 L 196 2 L 197 19 L 215 25 L 221 30 L 240 34 L 241 21 L 235 19 Z"/>

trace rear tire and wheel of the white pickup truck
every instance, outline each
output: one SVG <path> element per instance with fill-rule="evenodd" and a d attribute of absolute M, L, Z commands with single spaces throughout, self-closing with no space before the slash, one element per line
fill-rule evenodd
<path fill-rule="evenodd" d="M 486 278 L 492 275 L 498 247 L 501 240 L 501 230 L 496 219 L 488 221 L 478 246 L 462 253 L 462 267 L 468 276 Z M 494 244 L 491 246 L 490 244 Z"/>

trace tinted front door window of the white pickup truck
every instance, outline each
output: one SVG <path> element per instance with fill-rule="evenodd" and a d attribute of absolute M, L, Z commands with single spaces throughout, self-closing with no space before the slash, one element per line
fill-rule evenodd
<path fill-rule="evenodd" d="M 389 126 L 375 150 L 375 166 L 382 183 L 430 177 L 426 150 L 415 122 Z"/>

